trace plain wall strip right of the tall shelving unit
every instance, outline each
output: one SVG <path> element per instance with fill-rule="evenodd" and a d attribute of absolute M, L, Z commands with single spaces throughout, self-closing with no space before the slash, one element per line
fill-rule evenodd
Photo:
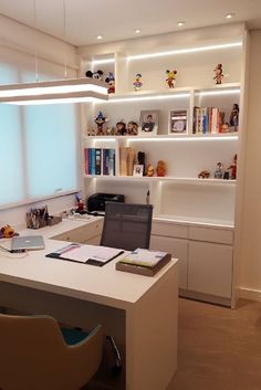
<path fill-rule="evenodd" d="M 250 74 L 242 214 L 241 296 L 261 299 L 261 30 L 250 32 Z"/>

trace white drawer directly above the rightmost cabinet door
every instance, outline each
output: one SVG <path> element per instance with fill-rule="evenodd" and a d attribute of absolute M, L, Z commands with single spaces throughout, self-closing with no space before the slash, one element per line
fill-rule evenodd
<path fill-rule="evenodd" d="M 189 239 L 195 241 L 233 244 L 233 231 L 212 228 L 189 226 Z"/>

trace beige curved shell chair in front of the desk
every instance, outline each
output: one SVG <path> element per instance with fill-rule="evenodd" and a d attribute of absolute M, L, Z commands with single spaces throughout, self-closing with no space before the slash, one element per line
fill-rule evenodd
<path fill-rule="evenodd" d="M 0 389 L 79 390 L 96 372 L 102 346 L 101 326 L 69 346 L 52 317 L 0 314 Z"/>

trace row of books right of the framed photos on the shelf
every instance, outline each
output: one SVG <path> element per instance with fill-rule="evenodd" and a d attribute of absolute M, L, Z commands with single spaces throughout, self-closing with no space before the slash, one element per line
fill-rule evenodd
<path fill-rule="evenodd" d="M 194 107 L 194 134 L 222 133 L 225 113 L 217 107 Z"/>

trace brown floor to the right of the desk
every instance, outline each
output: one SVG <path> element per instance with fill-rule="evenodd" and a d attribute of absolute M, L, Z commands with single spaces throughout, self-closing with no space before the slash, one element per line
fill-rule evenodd
<path fill-rule="evenodd" d="M 261 303 L 232 310 L 179 299 L 178 342 L 168 390 L 261 390 Z"/>

